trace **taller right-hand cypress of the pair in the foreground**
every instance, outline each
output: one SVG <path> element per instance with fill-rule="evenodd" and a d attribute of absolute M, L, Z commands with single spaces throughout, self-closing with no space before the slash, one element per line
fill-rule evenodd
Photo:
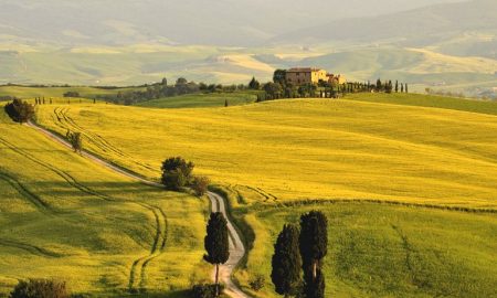
<path fill-rule="evenodd" d="M 304 285 L 308 292 L 316 286 L 321 260 L 328 253 L 328 220 L 322 212 L 311 211 L 300 216 L 299 248 Z"/>

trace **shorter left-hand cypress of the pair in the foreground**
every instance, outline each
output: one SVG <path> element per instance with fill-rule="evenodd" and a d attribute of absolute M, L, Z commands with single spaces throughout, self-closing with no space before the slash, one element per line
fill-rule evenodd
<path fill-rule="evenodd" d="M 285 297 L 295 295 L 302 280 L 298 234 L 297 226 L 286 224 L 274 245 L 271 279 L 276 292 Z"/>

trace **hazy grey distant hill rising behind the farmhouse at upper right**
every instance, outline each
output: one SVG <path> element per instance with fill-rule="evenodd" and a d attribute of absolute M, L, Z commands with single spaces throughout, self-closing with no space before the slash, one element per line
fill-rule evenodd
<path fill-rule="evenodd" d="M 434 4 L 371 18 L 335 20 L 273 39 L 274 43 L 322 43 L 328 41 L 396 41 L 408 46 L 425 46 L 451 40 L 463 32 L 497 32 L 497 1 Z M 495 39 L 488 41 L 495 44 Z"/>

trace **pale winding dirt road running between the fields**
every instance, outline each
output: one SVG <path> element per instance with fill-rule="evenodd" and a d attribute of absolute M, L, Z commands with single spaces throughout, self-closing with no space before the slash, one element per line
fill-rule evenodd
<path fill-rule="evenodd" d="M 72 149 L 72 145 L 65 140 L 64 138 L 53 134 L 52 131 L 35 125 L 32 121 L 29 121 L 27 124 L 28 126 L 36 129 L 38 131 L 42 132 L 43 135 L 45 135 L 46 137 L 49 137 L 50 139 L 67 147 L 68 149 Z M 150 187 L 156 187 L 156 188 L 163 188 L 162 184 L 154 182 L 154 181 L 149 181 L 142 177 L 139 177 L 137 174 L 134 174 L 131 172 L 128 172 L 117 166 L 112 164 L 108 161 L 105 161 L 104 159 L 92 155 L 87 151 L 83 151 L 82 156 L 93 160 L 94 162 L 114 171 L 117 172 L 119 174 L 123 174 L 127 178 L 131 178 L 134 180 L 137 180 L 139 182 L 142 182 L 147 185 Z M 223 198 L 221 198 L 221 195 L 214 193 L 214 192 L 208 192 L 208 196 L 209 200 L 211 201 L 211 209 L 212 212 L 221 212 L 224 214 L 224 217 L 228 221 L 228 230 L 229 230 L 229 234 L 230 234 L 230 258 L 228 259 L 228 262 L 223 265 L 220 266 L 220 280 L 225 285 L 225 289 L 224 292 L 232 297 L 232 298 L 248 298 L 248 296 L 246 294 L 244 294 L 234 283 L 232 279 L 232 275 L 233 272 L 236 267 L 236 265 L 240 263 L 240 260 L 243 258 L 243 256 L 245 255 L 245 246 L 243 245 L 243 242 L 239 235 L 239 233 L 236 232 L 236 228 L 234 227 L 232 221 L 230 220 L 230 217 L 228 216 L 226 213 L 226 206 L 225 206 L 225 201 Z M 214 278 L 214 272 L 212 273 L 212 278 Z"/>

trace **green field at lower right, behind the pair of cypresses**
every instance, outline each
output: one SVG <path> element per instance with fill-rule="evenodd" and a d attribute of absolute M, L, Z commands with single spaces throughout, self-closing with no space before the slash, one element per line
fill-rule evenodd
<path fill-rule="evenodd" d="M 371 203 L 265 207 L 247 215 L 256 238 L 245 270 L 265 277 L 257 297 L 281 297 L 271 284 L 273 244 L 284 223 L 320 210 L 328 216 L 326 297 L 496 297 L 497 219 Z"/>

